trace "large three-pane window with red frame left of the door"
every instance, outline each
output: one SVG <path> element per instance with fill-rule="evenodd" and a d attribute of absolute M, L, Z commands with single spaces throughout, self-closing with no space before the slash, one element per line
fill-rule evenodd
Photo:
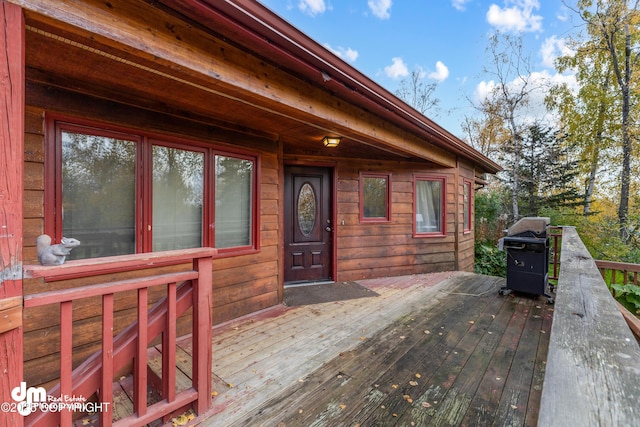
<path fill-rule="evenodd" d="M 200 246 L 257 249 L 255 156 L 62 122 L 54 127 L 45 232 L 82 242 L 70 259 Z"/>

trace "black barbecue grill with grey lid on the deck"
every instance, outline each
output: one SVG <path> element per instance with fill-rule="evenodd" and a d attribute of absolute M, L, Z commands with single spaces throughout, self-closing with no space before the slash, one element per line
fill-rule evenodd
<path fill-rule="evenodd" d="M 549 284 L 549 236 L 550 220 L 546 217 L 522 218 L 509 227 L 501 246 L 507 251 L 507 285 L 499 291 L 507 295 L 512 291 L 544 295 Z"/>

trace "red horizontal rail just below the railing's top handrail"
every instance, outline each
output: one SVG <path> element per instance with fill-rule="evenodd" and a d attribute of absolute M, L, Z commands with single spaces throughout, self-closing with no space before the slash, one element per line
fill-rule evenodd
<path fill-rule="evenodd" d="M 101 283 L 98 285 L 81 286 L 78 288 L 61 289 L 58 291 L 42 292 L 27 295 L 24 298 L 25 307 L 38 307 L 41 305 L 61 303 L 81 298 L 89 298 L 109 293 L 118 293 L 135 289 L 144 289 L 151 286 L 164 285 L 171 282 L 183 282 L 196 279 L 198 273 L 185 271 L 180 273 L 167 273 L 157 276 L 138 279 L 127 279 L 118 282 Z"/>

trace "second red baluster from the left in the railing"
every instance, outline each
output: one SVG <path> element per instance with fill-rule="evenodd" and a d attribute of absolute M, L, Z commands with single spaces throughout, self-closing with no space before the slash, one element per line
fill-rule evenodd
<path fill-rule="evenodd" d="M 113 294 L 102 297 L 102 387 L 100 403 L 113 402 Z M 110 426 L 113 408 L 100 412 L 100 425 Z"/>

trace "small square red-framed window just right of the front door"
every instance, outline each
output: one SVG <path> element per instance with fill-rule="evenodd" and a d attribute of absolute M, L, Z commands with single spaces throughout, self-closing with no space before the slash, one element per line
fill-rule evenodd
<path fill-rule="evenodd" d="M 391 220 L 391 175 L 360 174 L 360 221 Z"/>

